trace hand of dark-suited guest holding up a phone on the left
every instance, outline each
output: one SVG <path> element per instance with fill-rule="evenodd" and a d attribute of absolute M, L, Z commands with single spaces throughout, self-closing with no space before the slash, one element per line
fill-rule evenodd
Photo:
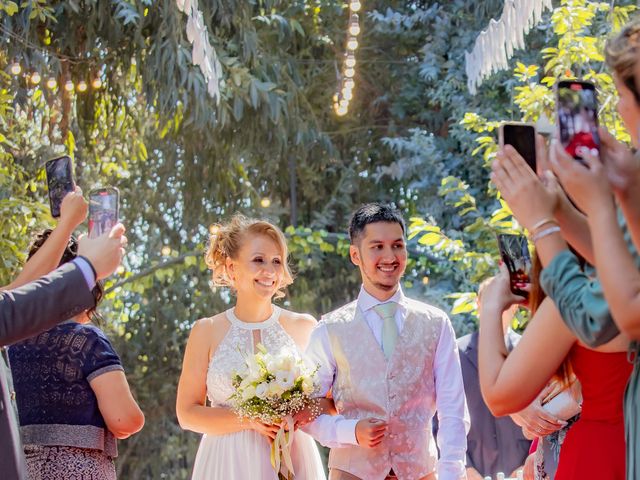
<path fill-rule="evenodd" d="M 124 256 L 127 237 L 124 236 L 124 226 L 115 225 L 109 233 L 90 239 L 85 235 L 78 240 L 78 255 L 87 258 L 96 271 L 96 280 L 111 275 Z"/>

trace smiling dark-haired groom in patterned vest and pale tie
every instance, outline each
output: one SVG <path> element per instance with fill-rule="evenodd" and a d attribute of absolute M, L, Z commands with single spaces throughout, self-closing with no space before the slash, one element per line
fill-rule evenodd
<path fill-rule="evenodd" d="M 349 236 L 360 294 L 322 318 L 307 348 L 319 395 L 331 391 L 338 415 L 304 430 L 332 448 L 329 480 L 466 479 L 469 414 L 455 334 L 444 312 L 400 288 L 404 220 L 387 205 L 363 205 Z"/>

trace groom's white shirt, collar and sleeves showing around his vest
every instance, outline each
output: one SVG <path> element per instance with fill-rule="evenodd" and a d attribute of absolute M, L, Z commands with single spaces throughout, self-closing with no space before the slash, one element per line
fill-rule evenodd
<path fill-rule="evenodd" d="M 398 303 L 395 320 L 398 334 L 402 332 L 407 314 L 403 306 L 405 299 L 402 288 L 388 300 L 380 301 L 370 295 L 364 287 L 360 288 L 357 308 L 371 329 L 376 341 L 382 346 L 382 318 L 373 309 L 387 302 Z M 354 339 L 357 341 L 357 339 Z M 308 360 L 319 365 L 317 381 L 319 396 L 326 396 L 333 385 L 336 360 L 331 351 L 329 333 L 320 322 L 311 334 L 306 350 Z M 460 358 L 455 333 L 449 321 L 444 322 L 440 332 L 438 346 L 433 363 L 433 376 L 436 386 L 436 409 L 438 412 L 438 447 L 440 459 L 437 472 L 439 480 L 458 480 L 464 478 L 467 432 L 469 431 L 469 411 L 464 396 L 464 383 L 460 369 Z M 347 419 L 342 415 L 320 415 L 314 422 L 304 427 L 304 431 L 313 436 L 322 445 L 339 448 L 358 445 L 356 424 L 358 420 Z"/>

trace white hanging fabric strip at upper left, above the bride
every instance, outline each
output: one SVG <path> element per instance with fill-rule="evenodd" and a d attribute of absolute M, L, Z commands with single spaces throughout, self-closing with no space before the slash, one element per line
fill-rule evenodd
<path fill-rule="evenodd" d="M 188 16 L 187 40 L 191 43 L 191 61 L 200 67 L 207 84 L 207 92 L 220 103 L 220 79 L 222 65 L 209 42 L 209 33 L 204 23 L 204 15 L 198 9 L 198 0 L 176 0 L 178 10 Z"/>

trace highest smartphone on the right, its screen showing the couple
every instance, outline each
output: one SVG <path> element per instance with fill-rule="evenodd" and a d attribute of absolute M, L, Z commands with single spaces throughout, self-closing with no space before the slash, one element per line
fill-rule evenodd
<path fill-rule="evenodd" d="M 590 82 L 563 80 L 557 87 L 558 137 L 569 155 L 582 161 L 580 151 L 600 152 L 598 100 Z"/>

